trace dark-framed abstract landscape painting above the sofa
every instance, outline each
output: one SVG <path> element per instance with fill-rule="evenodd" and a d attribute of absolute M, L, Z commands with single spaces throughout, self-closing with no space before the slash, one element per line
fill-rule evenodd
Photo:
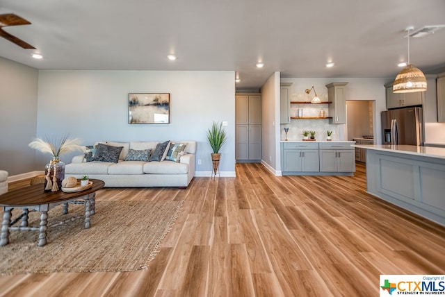
<path fill-rule="evenodd" d="M 170 124 L 170 93 L 129 93 L 128 124 Z"/>

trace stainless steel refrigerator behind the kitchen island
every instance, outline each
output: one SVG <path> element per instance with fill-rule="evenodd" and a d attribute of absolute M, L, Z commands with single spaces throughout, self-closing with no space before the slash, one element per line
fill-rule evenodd
<path fill-rule="evenodd" d="M 382 112 L 383 144 L 423 145 L 422 108 Z"/>

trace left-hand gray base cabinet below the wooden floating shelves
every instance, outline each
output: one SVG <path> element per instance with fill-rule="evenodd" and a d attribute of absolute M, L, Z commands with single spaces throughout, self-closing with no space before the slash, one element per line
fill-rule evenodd
<path fill-rule="evenodd" d="M 318 172 L 318 143 L 285 143 L 282 171 Z"/>

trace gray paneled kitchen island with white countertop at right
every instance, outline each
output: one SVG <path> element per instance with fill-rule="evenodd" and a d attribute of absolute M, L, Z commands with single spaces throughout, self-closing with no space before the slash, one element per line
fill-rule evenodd
<path fill-rule="evenodd" d="M 445 148 L 355 145 L 366 148 L 366 190 L 445 226 Z"/>

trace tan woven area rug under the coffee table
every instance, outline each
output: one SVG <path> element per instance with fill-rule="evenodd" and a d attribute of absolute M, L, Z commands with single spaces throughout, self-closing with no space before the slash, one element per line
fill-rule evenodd
<path fill-rule="evenodd" d="M 97 201 L 88 229 L 83 228 L 84 205 L 70 204 L 65 215 L 58 205 L 49 211 L 46 246 L 37 245 L 38 231 L 10 231 L 10 244 L 0 246 L 0 273 L 145 269 L 159 252 L 181 205 L 175 201 Z M 20 212 L 13 210 L 15 215 Z M 40 213 L 30 212 L 29 226 L 39 223 Z"/>

